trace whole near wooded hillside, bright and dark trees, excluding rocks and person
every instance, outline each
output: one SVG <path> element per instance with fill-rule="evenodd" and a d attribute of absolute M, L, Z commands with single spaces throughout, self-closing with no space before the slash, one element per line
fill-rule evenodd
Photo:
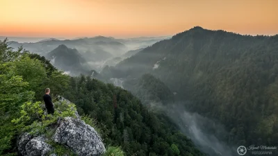
<path fill-rule="evenodd" d="M 67 76 L 40 55 L 13 51 L 6 40 L 0 42 L 1 155 L 18 155 L 17 137 L 23 132 L 47 135 L 49 129 L 44 128 L 58 120 L 58 112 L 71 116 L 73 112 L 65 105 L 56 107 L 53 117 L 40 116 L 47 87 L 53 98 L 65 96 L 75 103 L 83 119 L 99 130 L 106 146 L 121 146 L 126 155 L 202 155 L 166 116 L 149 112 L 130 92 L 90 77 Z"/>

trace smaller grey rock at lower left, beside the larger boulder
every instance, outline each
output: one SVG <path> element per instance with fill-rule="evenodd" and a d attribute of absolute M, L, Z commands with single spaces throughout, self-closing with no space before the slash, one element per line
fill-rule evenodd
<path fill-rule="evenodd" d="M 51 146 L 45 142 L 44 137 L 34 137 L 24 133 L 17 143 L 19 153 L 28 156 L 47 155 L 51 151 Z"/>

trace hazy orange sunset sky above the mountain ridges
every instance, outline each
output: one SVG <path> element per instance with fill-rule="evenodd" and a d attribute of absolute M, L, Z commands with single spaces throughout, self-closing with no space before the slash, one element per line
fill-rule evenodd
<path fill-rule="evenodd" d="M 278 0 L 0 0 L 0 36 L 278 34 Z"/>

